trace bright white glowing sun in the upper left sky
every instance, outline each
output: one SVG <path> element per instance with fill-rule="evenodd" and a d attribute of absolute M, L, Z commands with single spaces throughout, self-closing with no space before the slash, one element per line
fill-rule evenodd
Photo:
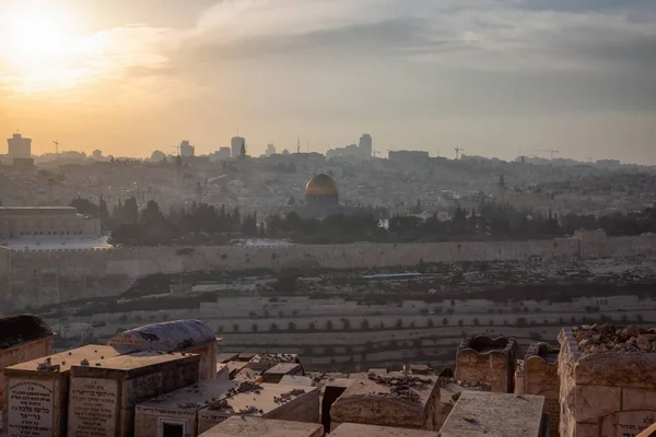
<path fill-rule="evenodd" d="M 70 49 L 72 23 L 66 11 L 51 7 L 16 10 L 3 21 L 8 25 L 0 50 L 16 68 L 51 64 Z"/>

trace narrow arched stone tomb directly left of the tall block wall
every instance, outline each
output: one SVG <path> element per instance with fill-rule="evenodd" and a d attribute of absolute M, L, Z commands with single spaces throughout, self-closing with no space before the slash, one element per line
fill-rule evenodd
<path fill-rule="evenodd" d="M 523 381 L 522 390 L 516 388 L 515 392 L 544 397 L 544 410 L 549 414 L 551 437 L 558 437 L 560 423 L 559 352 L 559 349 L 548 343 L 531 343 L 526 351 L 523 366 L 517 369 L 515 378 Z"/>

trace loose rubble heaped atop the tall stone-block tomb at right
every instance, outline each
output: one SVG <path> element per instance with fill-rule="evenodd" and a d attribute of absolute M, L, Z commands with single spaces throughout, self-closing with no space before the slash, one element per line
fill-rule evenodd
<path fill-rule="evenodd" d="M 625 328 L 611 323 L 574 327 L 572 335 L 584 355 L 602 352 L 656 353 L 656 328 Z"/>

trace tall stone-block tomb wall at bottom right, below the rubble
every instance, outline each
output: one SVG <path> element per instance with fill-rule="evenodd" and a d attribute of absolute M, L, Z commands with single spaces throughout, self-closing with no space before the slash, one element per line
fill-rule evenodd
<path fill-rule="evenodd" d="M 656 417 L 656 354 L 583 354 L 572 329 L 559 335 L 560 435 L 633 437 Z"/>

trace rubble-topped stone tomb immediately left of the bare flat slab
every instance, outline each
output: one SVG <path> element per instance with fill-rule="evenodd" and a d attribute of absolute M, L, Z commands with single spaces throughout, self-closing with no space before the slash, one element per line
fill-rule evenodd
<path fill-rule="evenodd" d="M 330 408 L 330 428 L 344 422 L 437 429 L 436 376 L 390 371 L 354 379 Z"/>

